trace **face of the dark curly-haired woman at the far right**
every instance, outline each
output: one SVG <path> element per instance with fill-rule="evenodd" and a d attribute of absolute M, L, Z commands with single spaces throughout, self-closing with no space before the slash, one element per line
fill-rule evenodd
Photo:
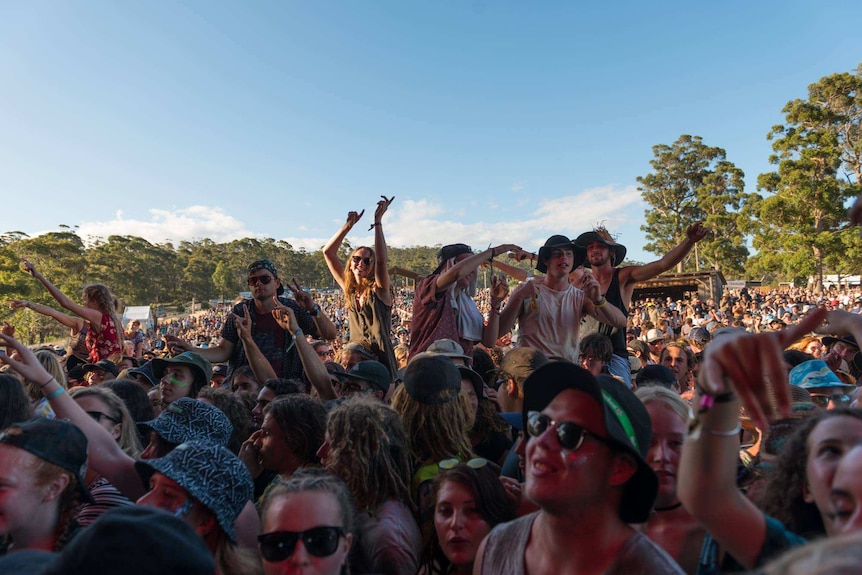
<path fill-rule="evenodd" d="M 862 440 L 862 420 L 855 417 L 830 417 L 821 421 L 808 436 L 808 461 L 805 466 L 805 495 L 823 517 L 826 533 L 834 535 L 832 480 L 841 458 Z"/>

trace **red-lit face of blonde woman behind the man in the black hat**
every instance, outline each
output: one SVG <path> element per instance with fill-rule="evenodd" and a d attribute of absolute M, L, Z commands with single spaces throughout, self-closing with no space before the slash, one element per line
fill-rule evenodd
<path fill-rule="evenodd" d="M 676 478 L 687 432 L 686 422 L 661 401 L 651 401 L 646 404 L 646 408 L 652 421 L 652 441 L 647 463 L 656 472 L 659 481 L 655 507 L 670 507 L 679 501 L 676 497 Z"/>

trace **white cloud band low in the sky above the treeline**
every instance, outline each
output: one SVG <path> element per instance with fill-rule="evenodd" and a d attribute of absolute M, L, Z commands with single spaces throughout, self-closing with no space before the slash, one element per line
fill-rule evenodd
<path fill-rule="evenodd" d="M 406 247 L 464 242 L 475 249 L 489 244 L 513 243 L 535 251 L 553 234 L 575 237 L 601 223 L 616 232 L 622 242 L 631 241 L 633 235 L 640 235 L 640 215 L 632 214 L 637 213 L 638 208 L 642 209 L 643 202 L 635 186 L 608 185 L 555 198 L 535 198 L 525 205 L 521 201 L 503 199 L 497 203 L 497 209 L 486 211 L 487 215 L 495 218 L 494 221 L 480 219 L 465 223 L 461 220 L 470 214 L 472 208 L 465 210 L 464 203 L 449 208 L 443 201 L 429 198 L 397 201 L 383 220 L 387 243 L 393 247 Z M 373 212 L 366 210 L 347 239 L 353 245 L 373 244 L 374 236 L 368 231 L 372 221 Z M 337 219 L 327 222 L 327 225 L 331 224 L 334 232 L 342 222 Z M 306 222 L 305 227 L 314 227 L 313 222 Z M 252 230 L 246 222 L 228 215 L 223 208 L 205 205 L 149 209 L 133 216 L 117 211 L 113 219 L 83 223 L 77 232 L 85 240 L 88 236 L 133 235 L 154 243 L 171 241 L 175 245 L 202 238 L 223 243 L 245 237 L 276 237 L 267 230 Z M 314 251 L 320 249 L 329 236 L 279 239 L 295 248 Z"/>

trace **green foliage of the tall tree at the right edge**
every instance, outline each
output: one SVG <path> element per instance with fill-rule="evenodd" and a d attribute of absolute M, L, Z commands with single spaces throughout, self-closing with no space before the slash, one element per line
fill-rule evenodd
<path fill-rule="evenodd" d="M 768 139 L 776 170 L 760 174 L 765 192 L 749 208 L 753 246 L 749 269 L 785 279 L 815 277 L 822 290 L 824 268 L 858 270 L 858 236 L 846 202 L 862 192 L 862 66 L 854 74 L 821 78 L 808 99 L 784 106 L 785 123 Z"/>

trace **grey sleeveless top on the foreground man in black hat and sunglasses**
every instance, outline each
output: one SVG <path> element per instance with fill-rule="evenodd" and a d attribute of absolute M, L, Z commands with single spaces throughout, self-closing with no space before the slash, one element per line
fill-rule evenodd
<path fill-rule="evenodd" d="M 498 525 L 491 531 L 482 557 L 482 575 L 526 575 L 524 553 L 533 521 L 539 513 Z M 604 575 L 685 575 L 685 572 L 662 548 L 635 532 L 620 548 Z"/>

